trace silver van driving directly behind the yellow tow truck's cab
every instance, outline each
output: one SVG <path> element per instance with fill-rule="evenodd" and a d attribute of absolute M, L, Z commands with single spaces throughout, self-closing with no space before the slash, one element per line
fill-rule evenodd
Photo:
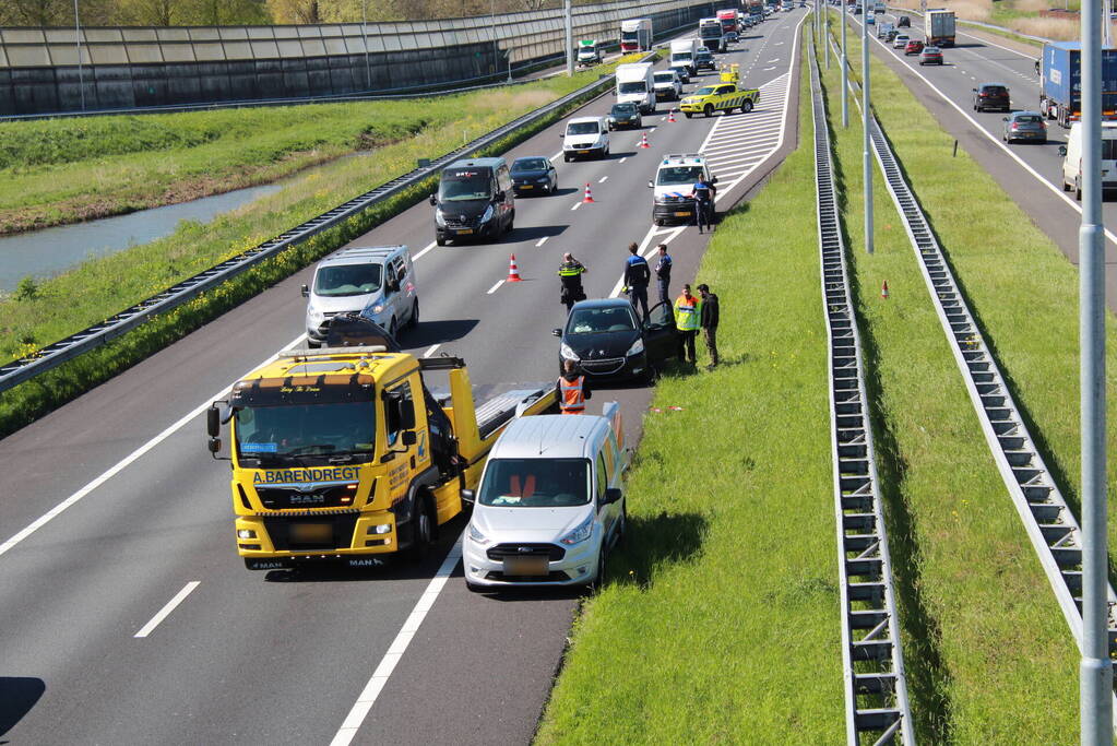
<path fill-rule="evenodd" d="M 303 286 L 307 345 L 321 347 L 337 314 L 359 313 L 394 337 L 419 323 L 419 291 L 405 246 L 350 247 L 323 259 Z"/>

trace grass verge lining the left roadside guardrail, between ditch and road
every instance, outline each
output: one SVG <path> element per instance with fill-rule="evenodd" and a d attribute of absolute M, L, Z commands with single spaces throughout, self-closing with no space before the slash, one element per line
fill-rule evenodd
<path fill-rule="evenodd" d="M 426 130 L 402 143 L 383 147 L 375 157 L 328 164 L 318 173 L 210 223 L 184 222 L 170 237 L 87 261 L 70 272 L 32 285 L 18 298 L 0 300 L 0 360 L 34 354 L 35 350 L 55 339 L 101 322 L 185 277 L 410 171 L 418 157 L 452 151 L 464 141 L 478 137 L 519 114 L 590 83 L 602 71 L 602 68 L 596 68 L 573 78 L 552 78 L 525 85 L 515 92 L 490 92 L 490 106 L 480 111 L 461 111 L 452 124 Z M 576 104 L 569 108 L 574 106 Z M 563 115 L 564 112 L 555 112 L 505 137 L 486 152 L 502 153 Z M 382 202 L 344 224 L 261 262 L 182 308 L 152 319 L 98 350 L 11 389 L 0 398 L 0 437 L 126 370 L 405 210 L 430 193 L 433 185 L 435 180 L 431 179 L 427 184 Z"/>

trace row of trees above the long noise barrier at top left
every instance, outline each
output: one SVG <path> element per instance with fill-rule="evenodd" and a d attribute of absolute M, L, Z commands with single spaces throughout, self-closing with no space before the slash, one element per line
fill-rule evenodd
<path fill-rule="evenodd" d="M 575 4 L 593 0 L 574 0 Z M 561 6 L 561 0 L 78 0 L 82 26 L 360 23 Z M 74 26 L 74 0 L 0 0 L 0 26 Z"/>

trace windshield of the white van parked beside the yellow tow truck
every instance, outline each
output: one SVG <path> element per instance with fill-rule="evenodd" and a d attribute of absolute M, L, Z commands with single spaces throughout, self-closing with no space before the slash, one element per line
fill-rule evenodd
<path fill-rule="evenodd" d="M 590 501 L 585 459 L 489 459 L 480 505 L 502 508 L 563 508 Z"/>

